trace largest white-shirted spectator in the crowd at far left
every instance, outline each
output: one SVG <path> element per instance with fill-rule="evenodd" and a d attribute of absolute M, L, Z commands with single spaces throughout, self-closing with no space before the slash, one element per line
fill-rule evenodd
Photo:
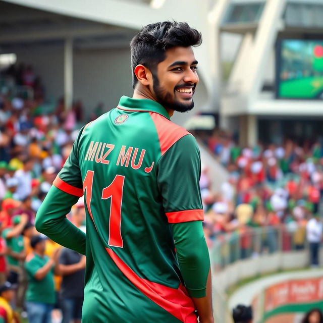
<path fill-rule="evenodd" d="M 23 169 L 15 173 L 15 178 L 18 180 L 17 195 L 20 200 L 31 194 L 31 171 L 34 166 L 34 160 L 30 157 L 23 158 Z"/>

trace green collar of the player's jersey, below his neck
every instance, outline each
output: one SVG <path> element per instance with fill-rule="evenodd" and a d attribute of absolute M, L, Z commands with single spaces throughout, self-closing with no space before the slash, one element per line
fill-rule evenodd
<path fill-rule="evenodd" d="M 118 109 L 125 111 L 155 112 L 171 120 L 165 107 L 150 99 L 134 99 L 123 95 L 120 98 Z"/>

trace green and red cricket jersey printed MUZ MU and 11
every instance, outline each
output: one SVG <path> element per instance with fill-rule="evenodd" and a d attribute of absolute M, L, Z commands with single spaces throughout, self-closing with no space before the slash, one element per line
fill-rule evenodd
<path fill-rule="evenodd" d="M 45 217 L 60 209 L 59 192 L 67 204 L 84 193 L 83 322 L 197 322 L 189 295 L 205 295 L 206 277 L 201 288 L 186 285 L 188 293 L 170 224 L 198 222 L 201 228 L 199 175 L 195 138 L 155 101 L 123 96 L 116 109 L 80 131 L 36 228 L 56 235 L 57 220 Z M 84 253 L 82 246 L 77 251 Z"/>

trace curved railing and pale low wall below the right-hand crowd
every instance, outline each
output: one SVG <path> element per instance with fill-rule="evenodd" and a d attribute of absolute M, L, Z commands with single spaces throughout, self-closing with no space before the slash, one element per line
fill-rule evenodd
<path fill-rule="evenodd" d="M 301 268 L 308 264 L 306 226 L 242 227 L 239 231 L 218 234 L 209 249 L 212 268 L 214 319 L 232 323 L 226 289 L 241 279 L 282 268 Z M 294 258 L 299 259 L 294 263 Z M 288 258 L 290 257 L 290 258 Z"/>

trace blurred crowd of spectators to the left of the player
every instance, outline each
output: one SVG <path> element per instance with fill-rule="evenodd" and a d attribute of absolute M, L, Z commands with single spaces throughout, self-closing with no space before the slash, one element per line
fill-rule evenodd
<path fill-rule="evenodd" d="M 32 67 L 0 74 L 0 322 L 80 322 L 85 257 L 40 235 L 34 223 L 82 124 L 80 101 L 68 111 L 63 99 L 48 108 Z M 68 218 L 85 230 L 82 198 Z"/>

